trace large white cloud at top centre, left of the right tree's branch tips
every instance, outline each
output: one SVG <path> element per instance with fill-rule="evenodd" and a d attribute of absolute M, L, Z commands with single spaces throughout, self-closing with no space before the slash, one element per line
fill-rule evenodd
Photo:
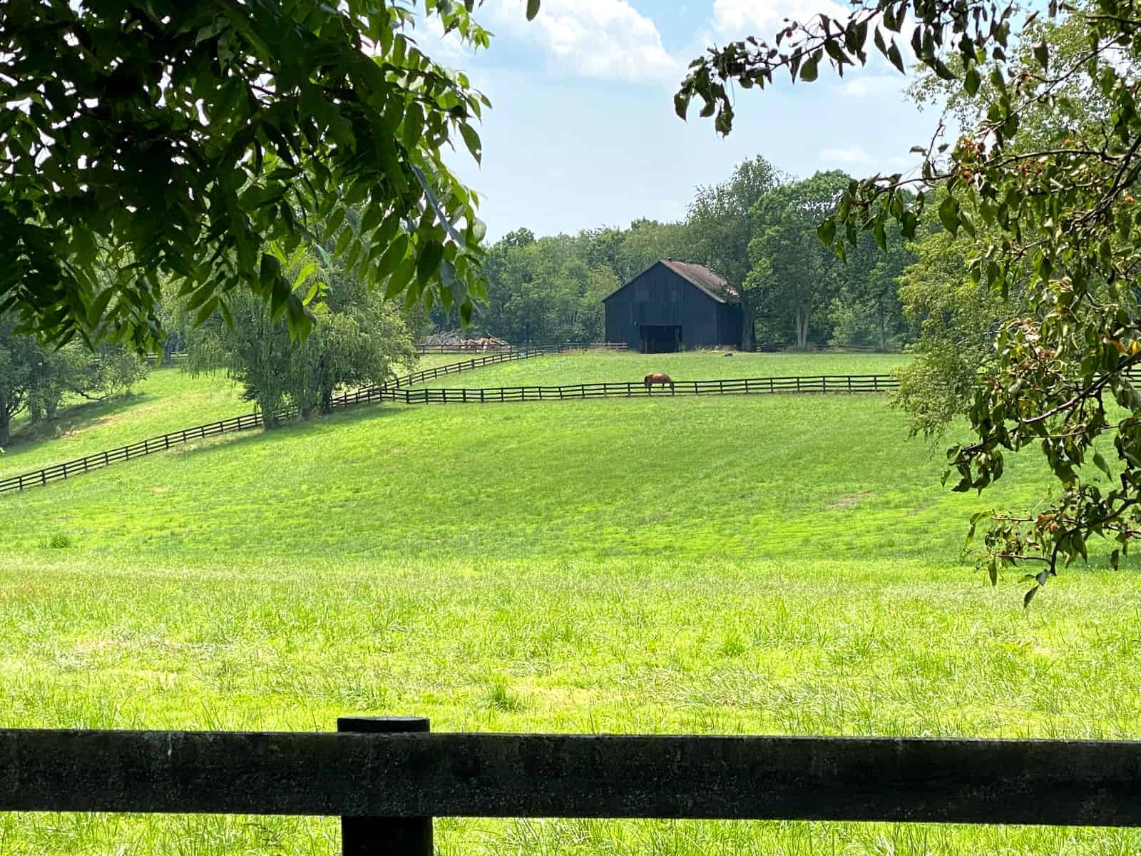
<path fill-rule="evenodd" d="M 551 65 L 585 78 L 674 84 L 687 58 L 671 55 L 657 25 L 626 0 L 543 0 L 526 23 L 524 0 L 488 0 L 489 29 L 539 42 Z"/>

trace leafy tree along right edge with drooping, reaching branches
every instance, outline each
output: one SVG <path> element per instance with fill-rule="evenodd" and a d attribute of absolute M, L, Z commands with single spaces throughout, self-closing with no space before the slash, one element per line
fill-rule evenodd
<path fill-rule="evenodd" d="M 1018 293 L 1025 313 L 1000 320 L 994 360 L 976 380 L 974 438 L 948 457 L 954 488 L 981 491 L 1002 477 L 1008 452 L 1044 454 L 1057 494 L 1034 512 L 972 523 L 986 528 L 992 580 L 1002 567 L 1031 568 L 1029 603 L 1059 565 L 1086 557 L 1090 539 L 1114 542 L 1116 566 L 1141 533 L 1141 390 L 1131 378 L 1141 363 L 1141 10 L 1051 0 L 1034 21 L 1020 14 L 982 0 L 857 1 L 844 19 L 786 23 L 771 45 L 738 41 L 697 59 L 675 108 L 685 115 L 697 98 L 728 132 L 730 82 L 810 82 L 822 65 L 850 73 L 872 51 L 900 71 L 907 54 L 957 89 L 977 121 L 957 140 L 937 134 L 920 146 L 914 178 L 851 183 L 819 235 L 843 252 L 863 231 L 885 242 L 896 220 L 912 240 L 934 204 L 942 228 L 974 239 L 971 276 L 1000 298 Z"/>

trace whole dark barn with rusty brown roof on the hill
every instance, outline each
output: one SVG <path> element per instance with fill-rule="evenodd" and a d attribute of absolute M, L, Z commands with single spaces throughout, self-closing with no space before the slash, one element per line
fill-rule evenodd
<path fill-rule="evenodd" d="M 665 259 L 602 300 L 606 341 L 644 354 L 741 347 L 741 298 L 703 265 Z"/>

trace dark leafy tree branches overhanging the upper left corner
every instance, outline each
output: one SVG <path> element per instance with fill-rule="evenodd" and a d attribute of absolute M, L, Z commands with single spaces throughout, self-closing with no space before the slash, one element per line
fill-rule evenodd
<path fill-rule="evenodd" d="M 0 3 L 0 310 L 54 342 L 147 348 L 164 290 L 199 321 L 252 294 L 301 333 L 265 242 L 292 252 L 319 224 L 351 275 L 468 317 L 484 226 L 442 152 L 480 158 L 487 100 L 412 27 L 488 34 L 472 0 L 415 6 Z"/>

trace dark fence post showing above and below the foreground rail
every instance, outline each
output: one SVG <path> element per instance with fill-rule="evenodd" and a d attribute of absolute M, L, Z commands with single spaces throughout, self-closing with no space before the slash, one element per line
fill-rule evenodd
<path fill-rule="evenodd" d="M 428 717 L 338 717 L 338 732 L 431 730 Z M 341 817 L 341 856 L 431 856 L 430 817 Z"/>

